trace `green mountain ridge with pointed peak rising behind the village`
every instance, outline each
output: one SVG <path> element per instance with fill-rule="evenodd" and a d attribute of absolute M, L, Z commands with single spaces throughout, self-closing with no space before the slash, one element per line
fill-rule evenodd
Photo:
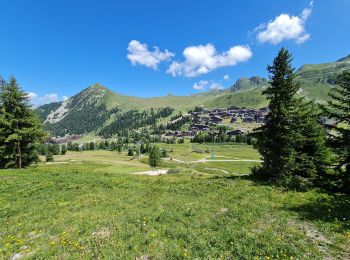
<path fill-rule="evenodd" d="M 329 89 L 334 85 L 334 75 L 345 69 L 350 69 L 350 55 L 336 62 L 302 66 L 296 72 L 302 88 L 300 94 L 325 102 Z M 267 79 L 254 76 L 240 78 L 232 87 L 221 91 L 190 96 L 169 94 L 163 97 L 138 98 L 115 93 L 95 83 L 66 101 L 39 107 L 37 113 L 43 120 L 45 129 L 53 135 L 99 133 L 105 128 L 111 132 L 111 129 L 119 129 L 116 124 L 120 124 L 118 122 L 121 120 L 125 121 L 128 115 L 137 117 L 137 122 L 133 122 L 133 125 L 145 127 L 149 122 L 164 122 L 171 115 L 180 111 L 187 112 L 197 106 L 209 109 L 230 106 L 261 108 L 267 105 L 261 92 L 268 84 Z M 151 109 L 155 111 L 152 112 Z M 169 111 L 172 111 L 170 115 L 167 114 Z"/>

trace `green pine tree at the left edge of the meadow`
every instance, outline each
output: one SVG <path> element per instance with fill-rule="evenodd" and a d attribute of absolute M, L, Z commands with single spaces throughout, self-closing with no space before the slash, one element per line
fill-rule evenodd
<path fill-rule="evenodd" d="M 39 160 L 46 134 L 15 78 L 0 79 L 0 168 L 22 168 Z"/>

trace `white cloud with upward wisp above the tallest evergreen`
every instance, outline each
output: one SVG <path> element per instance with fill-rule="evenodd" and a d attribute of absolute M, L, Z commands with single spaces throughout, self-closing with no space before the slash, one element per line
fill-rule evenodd
<path fill-rule="evenodd" d="M 283 40 L 294 40 L 296 43 L 303 43 L 310 38 L 310 34 L 305 30 L 306 20 L 312 12 L 313 1 L 305 8 L 300 16 L 280 14 L 267 24 L 260 24 L 255 28 L 257 40 L 261 43 L 269 42 L 278 44 Z"/>

